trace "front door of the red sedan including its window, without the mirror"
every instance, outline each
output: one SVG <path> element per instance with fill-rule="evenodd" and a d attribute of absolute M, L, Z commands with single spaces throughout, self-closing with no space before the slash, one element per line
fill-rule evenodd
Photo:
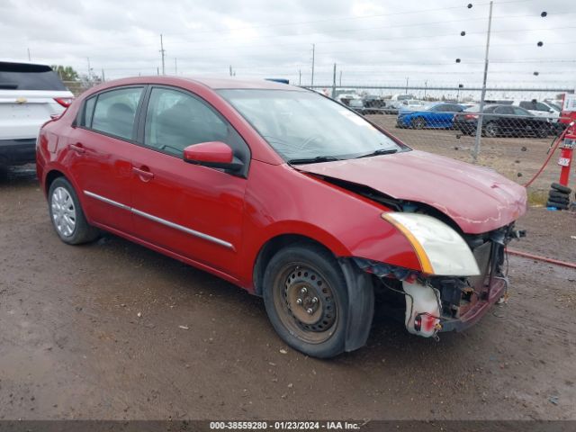
<path fill-rule="evenodd" d="M 249 164 L 247 144 L 208 103 L 182 89 L 153 86 L 140 117 L 142 147 L 132 155 L 136 234 L 226 274 L 237 273 L 246 175 L 184 162 L 184 148 L 229 145 Z"/>

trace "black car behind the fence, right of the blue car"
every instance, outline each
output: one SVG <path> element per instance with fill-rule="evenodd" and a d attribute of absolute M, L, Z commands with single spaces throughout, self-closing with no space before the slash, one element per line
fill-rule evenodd
<path fill-rule="evenodd" d="M 478 125 L 480 105 L 455 114 L 454 125 L 464 134 L 473 135 Z M 484 105 L 482 134 L 486 137 L 538 137 L 545 138 L 554 131 L 550 121 L 514 105 Z"/>

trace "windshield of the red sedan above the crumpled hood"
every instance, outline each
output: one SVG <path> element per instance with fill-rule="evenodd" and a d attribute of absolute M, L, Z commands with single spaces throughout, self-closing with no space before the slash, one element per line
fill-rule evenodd
<path fill-rule="evenodd" d="M 287 161 L 347 159 L 408 149 L 362 116 L 320 94 L 259 89 L 219 93 Z"/>

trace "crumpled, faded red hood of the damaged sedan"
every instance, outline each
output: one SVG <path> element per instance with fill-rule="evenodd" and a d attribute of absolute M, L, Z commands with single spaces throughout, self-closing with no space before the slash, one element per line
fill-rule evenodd
<path fill-rule="evenodd" d="M 363 184 L 392 198 L 426 203 L 470 234 L 500 228 L 526 212 L 523 186 L 489 168 L 418 150 L 297 169 Z"/>

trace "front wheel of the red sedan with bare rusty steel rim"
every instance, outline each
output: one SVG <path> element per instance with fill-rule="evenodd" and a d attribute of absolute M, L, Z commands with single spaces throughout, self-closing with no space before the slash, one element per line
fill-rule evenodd
<path fill-rule="evenodd" d="M 345 350 L 347 284 L 329 251 L 299 243 L 281 249 L 263 281 L 268 318 L 290 347 L 328 358 Z"/>

